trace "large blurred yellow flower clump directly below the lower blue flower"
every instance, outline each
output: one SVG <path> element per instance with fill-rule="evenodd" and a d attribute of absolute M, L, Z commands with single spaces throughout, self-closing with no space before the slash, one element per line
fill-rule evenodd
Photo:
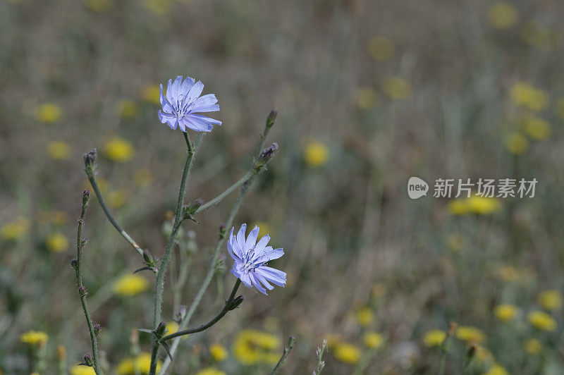
<path fill-rule="evenodd" d="M 233 343 L 233 354 L 243 364 L 276 363 L 280 357 L 281 341 L 270 333 L 245 329 L 240 331 Z"/>

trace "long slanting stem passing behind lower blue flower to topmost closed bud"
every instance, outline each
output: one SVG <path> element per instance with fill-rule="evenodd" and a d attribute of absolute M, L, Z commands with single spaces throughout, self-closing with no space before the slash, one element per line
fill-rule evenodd
<path fill-rule="evenodd" d="M 262 147 L 264 147 L 264 140 L 266 140 L 266 136 L 269 134 L 269 131 L 272 128 L 272 125 L 274 125 L 274 121 L 276 120 L 276 115 L 277 115 L 277 111 L 273 109 L 269 113 L 268 118 L 266 118 L 266 125 L 264 126 L 264 132 L 260 135 L 258 152 L 257 152 L 255 159 L 259 159 L 259 156 L 262 152 Z M 257 171 L 257 168 L 255 168 L 255 161 L 253 161 L 252 164 L 251 164 L 250 171 L 247 173 L 247 174 L 250 173 L 251 176 L 244 183 L 241 184 L 241 191 L 239 193 L 239 197 L 238 197 L 237 201 L 235 202 L 235 204 L 233 205 L 233 208 L 231 209 L 231 213 L 229 214 L 229 217 L 226 221 L 225 228 L 229 228 L 233 224 L 233 219 L 235 219 L 235 215 L 239 211 L 239 208 L 241 207 L 241 204 L 243 203 L 243 199 L 245 198 L 245 195 L 247 195 L 249 187 L 250 187 L 250 185 L 252 185 L 252 182 L 253 182 L 253 180 L 255 180 L 255 177 L 257 176 L 258 172 L 259 171 Z M 235 183 L 235 184 L 237 184 L 237 183 Z M 200 207 L 200 208 L 202 208 L 202 207 Z M 185 314 L 185 316 L 183 316 L 183 319 L 180 321 L 178 329 L 185 329 L 188 326 L 188 323 L 190 322 L 192 315 L 194 314 L 198 305 L 200 305 L 200 301 L 202 300 L 204 293 L 206 293 L 206 290 L 209 286 L 209 283 L 212 281 L 212 278 L 214 276 L 215 265 L 216 265 L 217 259 L 219 257 L 219 251 L 221 250 L 221 246 L 223 245 L 224 239 L 225 239 L 225 233 L 222 233 L 219 236 L 219 240 L 216 242 L 216 247 L 214 248 L 214 253 L 212 255 L 212 262 L 209 264 L 209 269 L 208 269 L 207 274 L 204 278 L 202 286 L 200 286 L 200 289 L 197 291 L 196 296 L 194 297 L 194 300 L 192 301 L 192 305 L 190 305 L 190 308 L 188 309 L 188 312 Z M 171 345 L 171 350 L 170 350 L 171 356 L 173 356 L 175 354 L 179 343 L 180 343 L 180 338 L 175 338 L 175 340 L 173 341 L 173 343 Z M 170 366 L 170 365 L 171 365 L 171 358 L 167 357 L 164 360 L 164 363 L 163 363 L 163 366 L 161 368 L 161 371 L 159 372 L 159 375 L 165 374 L 166 369 L 168 369 L 168 366 Z M 151 374 L 151 375 L 153 375 L 153 374 Z"/>

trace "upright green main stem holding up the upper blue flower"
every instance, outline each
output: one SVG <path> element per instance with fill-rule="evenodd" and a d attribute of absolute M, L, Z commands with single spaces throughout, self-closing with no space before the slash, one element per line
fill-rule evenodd
<path fill-rule="evenodd" d="M 176 204 L 176 211 L 173 223 L 173 229 L 171 232 L 170 237 L 168 237 L 168 241 L 166 242 L 166 247 L 164 250 L 163 259 L 159 266 L 159 271 L 157 272 L 157 280 L 155 281 L 155 293 L 154 293 L 154 319 L 153 319 L 153 327 L 156 330 L 157 326 L 161 322 L 161 312 L 162 312 L 162 303 L 163 303 L 163 293 L 164 293 L 164 275 L 166 273 L 166 268 L 168 263 L 171 261 L 171 253 L 174 247 L 174 241 L 176 240 L 176 234 L 178 233 L 178 229 L 180 228 L 180 224 L 182 223 L 182 205 L 184 203 L 184 195 L 186 191 L 186 183 L 188 181 L 188 177 L 190 176 L 190 169 L 192 168 L 192 164 L 194 161 L 195 156 L 195 148 L 192 147 L 192 142 L 190 142 L 190 138 L 188 137 L 187 133 L 183 133 L 184 140 L 186 141 L 186 147 L 188 148 L 188 156 L 186 157 L 186 162 L 184 164 L 184 171 L 182 173 L 182 180 L 180 180 L 180 191 L 178 192 L 178 203 Z M 198 137 L 197 145 L 200 145 L 200 141 L 204 136 L 203 133 L 200 134 Z M 154 375 L 157 371 L 157 354 L 159 352 L 159 342 L 156 338 L 153 338 L 153 348 L 151 352 L 151 368 L 149 370 L 149 375 Z"/>

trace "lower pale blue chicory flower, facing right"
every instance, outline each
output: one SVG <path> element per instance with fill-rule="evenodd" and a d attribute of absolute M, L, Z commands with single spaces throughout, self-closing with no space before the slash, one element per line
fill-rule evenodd
<path fill-rule="evenodd" d="M 260 293 L 266 294 L 266 289 L 274 289 L 270 283 L 283 287 L 286 284 L 286 273 L 266 266 L 266 263 L 272 259 L 278 259 L 284 254 L 284 251 L 281 248 L 273 249 L 272 246 L 266 246 L 270 240 L 269 235 L 264 235 L 257 242 L 258 226 L 251 230 L 246 240 L 247 224 L 241 226 L 236 236 L 233 235 L 234 229 L 231 228 L 227 241 L 227 250 L 235 260 L 231 273 L 240 278 L 249 288 L 255 286 Z"/>

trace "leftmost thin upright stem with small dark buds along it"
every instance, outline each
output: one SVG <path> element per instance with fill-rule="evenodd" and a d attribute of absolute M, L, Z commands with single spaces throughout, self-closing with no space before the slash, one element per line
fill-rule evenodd
<path fill-rule="evenodd" d="M 100 368 L 98 359 L 98 343 L 96 342 L 96 333 L 94 333 L 94 325 L 92 324 L 92 317 L 88 311 L 88 305 L 86 303 L 86 290 L 82 283 L 82 226 L 84 226 L 84 218 L 86 215 L 86 209 L 90 204 L 90 193 L 87 191 L 82 197 L 82 210 L 80 211 L 80 219 L 78 220 L 78 230 L 76 234 L 76 264 L 75 264 L 75 276 L 76 283 L 78 285 L 78 295 L 80 296 L 80 304 L 82 305 L 82 311 L 84 312 L 86 323 L 88 325 L 88 331 L 90 331 L 90 341 L 92 343 L 92 359 L 94 360 L 94 372 L 97 375 L 102 375 L 102 369 Z"/>

